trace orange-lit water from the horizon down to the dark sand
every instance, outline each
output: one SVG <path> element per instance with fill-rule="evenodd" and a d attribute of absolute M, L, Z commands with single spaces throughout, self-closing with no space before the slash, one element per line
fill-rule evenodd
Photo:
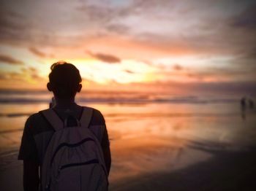
<path fill-rule="evenodd" d="M 17 154 L 24 123 L 30 114 L 48 108 L 51 97 L 46 91 L 0 91 L 1 172 L 20 168 Z M 239 96 L 91 91 L 78 94 L 76 103 L 94 107 L 105 117 L 112 185 L 208 160 L 212 154 L 206 150 L 255 145 L 256 112 L 241 109 Z"/>

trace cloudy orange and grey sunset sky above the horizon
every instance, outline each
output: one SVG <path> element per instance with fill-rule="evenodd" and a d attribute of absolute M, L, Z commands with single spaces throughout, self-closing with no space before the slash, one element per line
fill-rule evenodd
<path fill-rule="evenodd" d="M 255 58 L 256 1 L 1 0 L 0 89 L 61 60 L 88 90 L 256 92 Z"/>

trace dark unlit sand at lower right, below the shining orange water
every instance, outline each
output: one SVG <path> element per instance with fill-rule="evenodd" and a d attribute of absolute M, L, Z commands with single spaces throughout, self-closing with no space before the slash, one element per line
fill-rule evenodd
<path fill-rule="evenodd" d="M 114 182 L 110 190 L 256 190 L 255 161 L 256 148 L 246 152 L 219 151 L 210 160 L 177 171 Z"/>

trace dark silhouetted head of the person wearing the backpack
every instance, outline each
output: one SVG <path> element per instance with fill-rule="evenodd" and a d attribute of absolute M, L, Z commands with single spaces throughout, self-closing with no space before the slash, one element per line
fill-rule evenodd
<path fill-rule="evenodd" d="M 64 61 L 53 63 L 50 69 L 48 90 L 53 91 L 56 98 L 75 98 L 82 88 L 79 70 L 72 63 Z"/>

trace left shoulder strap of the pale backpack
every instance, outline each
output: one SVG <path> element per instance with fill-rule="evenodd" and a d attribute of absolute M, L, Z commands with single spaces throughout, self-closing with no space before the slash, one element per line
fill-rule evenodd
<path fill-rule="evenodd" d="M 53 111 L 53 109 L 45 109 L 42 110 L 40 113 L 50 122 L 50 125 L 53 126 L 54 130 L 61 130 L 64 128 L 64 123 L 59 118 L 59 116 L 56 114 L 56 112 Z"/>

